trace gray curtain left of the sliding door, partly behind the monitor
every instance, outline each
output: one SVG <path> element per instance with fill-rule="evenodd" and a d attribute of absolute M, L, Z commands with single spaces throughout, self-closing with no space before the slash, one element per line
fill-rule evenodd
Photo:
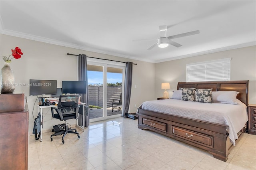
<path fill-rule="evenodd" d="M 88 97 L 88 77 L 87 77 L 87 60 L 85 54 L 79 54 L 78 57 L 78 80 L 86 81 L 86 94 L 81 94 L 81 102 L 86 103 L 89 107 Z M 85 127 L 89 126 L 90 109 L 88 109 L 88 115 L 85 115 Z"/>

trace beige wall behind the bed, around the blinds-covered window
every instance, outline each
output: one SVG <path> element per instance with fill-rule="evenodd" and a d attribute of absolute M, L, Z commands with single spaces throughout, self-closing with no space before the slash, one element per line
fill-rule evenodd
<path fill-rule="evenodd" d="M 163 96 L 161 83 L 170 83 L 171 89 L 168 92 L 171 97 L 172 91 L 177 88 L 177 83 L 186 82 L 186 64 L 222 58 L 231 58 L 231 80 L 249 80 L 249 103 L 256 104 L 256 46 L 156 63 L 155 97 Z"/>

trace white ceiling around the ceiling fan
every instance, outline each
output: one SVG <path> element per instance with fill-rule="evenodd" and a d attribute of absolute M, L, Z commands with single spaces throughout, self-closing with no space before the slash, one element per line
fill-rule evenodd
<path fill-rule="evenodd" d="M 0 1 L 1 34 L 152 63 L 256 45 L 256 1 Z M 148 48 L 159 26 L 181 47 Z M 92 56 L 93 57 L 93 56 Z"/>

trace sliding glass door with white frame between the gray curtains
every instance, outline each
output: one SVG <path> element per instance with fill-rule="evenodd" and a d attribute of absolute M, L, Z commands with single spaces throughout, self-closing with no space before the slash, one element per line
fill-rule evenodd
<path fill-rule="evenodd" d="M 87 61 L 90 122 L 122 116 L 123 63 Z"/>

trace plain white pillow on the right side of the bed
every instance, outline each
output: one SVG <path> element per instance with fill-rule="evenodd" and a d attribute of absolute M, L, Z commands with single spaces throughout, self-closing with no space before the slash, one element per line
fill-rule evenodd
<path fill-rule="evenodd" d="M 212 91 L 212 102 L 237 105 L 236 95 L 238 93 L 237 91 Z"/>

